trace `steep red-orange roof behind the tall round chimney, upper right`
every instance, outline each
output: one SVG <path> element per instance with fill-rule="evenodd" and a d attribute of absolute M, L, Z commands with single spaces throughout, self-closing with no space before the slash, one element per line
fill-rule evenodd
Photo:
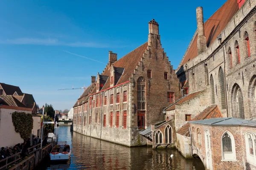
<path fill-rule="evenodd" d="M 204 34 L 207 40 L 207 47 L 209 47 L 209 45 L 216 40 L 218 35 L 221 34 L 221 31 L 227 26 L 238 10 L 239 6 L 236 0 L 227 0 L 227 2 L 224 3 L 221 8 L 219 8 L 211 17 L 209 17 L 209 19 L 204 23 Z M 195 32 L 195 35 L 180 62 L 179 68 L 186 64 L 186 62 L 189 60 L 198 56 L 197 40 L 198 35 L 197 32 Z"/>

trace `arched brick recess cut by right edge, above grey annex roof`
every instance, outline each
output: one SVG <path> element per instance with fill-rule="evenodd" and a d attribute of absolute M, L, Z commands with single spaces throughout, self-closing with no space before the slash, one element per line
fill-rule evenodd
<path fill-rule="evenodd" d="M 256 116 L 256 75 L 253 75 L 253 77 L 250 79 L 248 99 L 250 118 L 252 118 Z"/>

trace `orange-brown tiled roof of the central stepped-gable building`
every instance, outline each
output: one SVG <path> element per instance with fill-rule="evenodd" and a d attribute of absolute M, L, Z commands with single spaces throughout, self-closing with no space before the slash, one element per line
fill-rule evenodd
<path fill-rule="evenodd" d="M 145 53 L 146 49 L 148 47 L 148 42 L 145 42 L 143 45 L 140 45 L 140 47 L 134 49 L 130 53 L 126 54 L 124 57 L 120 58 L 116 62 L 113 63 L 113 66 L 117 68 L 119 71 L 124 68 L 122 75 L 120 75 L 120 79 L 118 81 L 118 84 L 124 83 L 129 81 L 131 75 L 134 73 L 134 69 L 136 69 L 136 65 L 139 65 L 139 61 L 141 61 L 141 58 L 143 57 L 143 54 Z M 105 71 L 102 74 L 103 76 L 110 76 L 110 68 L 109 66 L 106 67 Z M 110 87 L 110 79 L 108 79 L 103 86 L 102 90 L 105 90 Z M 91 94 L 96 93 L 96 87 L 93 88 L 93 91 Z"/>

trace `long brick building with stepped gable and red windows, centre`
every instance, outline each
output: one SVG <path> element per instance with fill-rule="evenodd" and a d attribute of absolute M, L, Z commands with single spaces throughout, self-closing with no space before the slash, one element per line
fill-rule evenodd
<path fill-rule="evenodd" d="M 127 146 L 151 142 L 139 132 L 163 121 L 163 109 L 181 91 L 158 23 L 153 19 L 148 26 L 148 41 L 134 51 L 119 60 L 109 51 L 108 65 L 74 105 L 74 131 Z"/>

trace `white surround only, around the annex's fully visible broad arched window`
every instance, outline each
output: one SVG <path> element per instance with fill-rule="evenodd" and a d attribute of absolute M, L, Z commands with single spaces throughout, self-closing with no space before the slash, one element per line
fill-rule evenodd
<path fill-rule="evenodd" d="M 231 139 L 231 144 L 232 144 L 232 152 L 223 152 L 223 136 L 224 134 L 227 133 L 230 136 Z M 221 155 L 222 155 L 222 159 L 221 161 L 237 161 L 236 160 L 236 145 L 235 145 L 235 139 L 232 133 L 230 133 L 230 131 L 225 131 L 222 135 L 221 135 Z M 225 158 L 226 157 L 226 158 Z"/>

